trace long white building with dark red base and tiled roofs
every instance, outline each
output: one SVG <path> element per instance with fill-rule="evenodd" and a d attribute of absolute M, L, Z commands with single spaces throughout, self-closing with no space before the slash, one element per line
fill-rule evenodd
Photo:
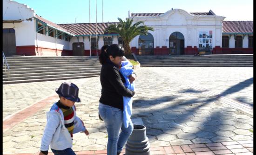
<path fill-rule="evenodd" d="M 138 55 L 253 53 L 253 21 L 224 21 L 211 10 L 182 9 L 129 13 L 128 18 L 154 28 L 131 41 L 132 52 Z M 118 23 L 55 24 L 27 5 L 3 0 L 3 52 L 6 56 L 97 56 L 102 45 L 122 45 L 118 34 L 104 33 L 112 24 Z"/>

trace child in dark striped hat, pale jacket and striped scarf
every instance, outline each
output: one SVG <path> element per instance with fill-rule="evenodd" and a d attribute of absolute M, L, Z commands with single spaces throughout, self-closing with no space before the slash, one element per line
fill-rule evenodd
<path fill-rule="evenodd" d="M 76 116 L 75 102 L 80 102 L 78 87 L 64 82 L 55 90 L 60 100 L 47 112 L 47 124 L 41 140 L 40 154 L 47 155 L 49 145 L 54 155 L 75 155 L 72 148 L 73 134 L 80 131 L 89 135 L 80 118 Z"/>

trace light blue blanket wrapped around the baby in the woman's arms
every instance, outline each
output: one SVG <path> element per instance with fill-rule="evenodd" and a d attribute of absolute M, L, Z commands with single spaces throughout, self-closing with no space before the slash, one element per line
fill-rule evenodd
<path fill-rule="evenodd" d="M 133 65 L 129 61 L 122 61 L 120 72 L 125 78 L 125 87 L 129 90 L 135 90 L 134 82 L 131 84 L 128 78 L 134 72 Z M 132 103 L 132 97 L 123 97 L 123 123 L 125 128 L 128 128 L 128 123 L 131 121 Z"/>

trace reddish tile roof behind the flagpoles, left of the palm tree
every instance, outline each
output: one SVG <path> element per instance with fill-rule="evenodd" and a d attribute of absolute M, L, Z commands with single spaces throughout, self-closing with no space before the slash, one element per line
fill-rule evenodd
<path fill-rule="evenodd" d="M 96 33 L 102 35 L 104 30 L 109 25 L 112 25 L 112 24 L 117 25 L 117 24 L 119 24 L 119 22 L 97 23 L 97 26 L 96 26 L 96 23 L 91 23 L 91 35 L 96 35 Z M 68 32 L 73 33 L 74 35 L 89 35 L 90 34 L 89 23 L 58 24 L 58 25 L 64 29 L 66 29 Z M 104 33 L 104 34 L 106 34 L 106 33 Z"/>

